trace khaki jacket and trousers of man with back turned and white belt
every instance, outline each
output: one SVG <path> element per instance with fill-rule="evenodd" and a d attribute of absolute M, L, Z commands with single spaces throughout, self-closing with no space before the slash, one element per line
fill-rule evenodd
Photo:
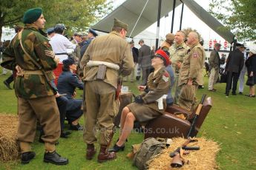
<path fill-rule="evenodd" d="M 118 71 L 108 68 L 103 81 L 96 80 L 98 67 L 88 67 L 88 61 L 105 61 L 118 64 Z M 100 131 L 99 144 L 108 146 L 114 127 L 114 116 L 119 109 L 115 99 L 119 75 L 130 75 L 134 68 L 131 48 L 127 41 L 112 32 L 94 38 L 82 56 L 85 81 L 85 130 L 84 141 L 91 144 L 96 141 L 96 129 Z"/>

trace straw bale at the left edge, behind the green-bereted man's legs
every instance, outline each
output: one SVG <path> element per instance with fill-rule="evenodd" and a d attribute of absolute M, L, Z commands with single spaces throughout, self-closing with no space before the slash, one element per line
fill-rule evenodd
<path fill-rule="evenodd" d="M 19 156 L 17 145 L 17 129 L 19 118 L 17 115 L 0 114 L 0 160 L 16 160 Z"/>

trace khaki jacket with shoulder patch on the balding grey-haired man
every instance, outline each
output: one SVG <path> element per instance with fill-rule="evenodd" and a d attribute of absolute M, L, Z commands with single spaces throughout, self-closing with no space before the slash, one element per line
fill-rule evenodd
<path fill-rule="evenodd" d="M 202 81 L 202 74 L 205 60 L 203 47 L 196 43 L 188 50 L 184 57 L 183 64 L 180 67 L 179 86 L 188 83 L 188 78 L 193 80 L 193 84 L 200 84 Z"/>

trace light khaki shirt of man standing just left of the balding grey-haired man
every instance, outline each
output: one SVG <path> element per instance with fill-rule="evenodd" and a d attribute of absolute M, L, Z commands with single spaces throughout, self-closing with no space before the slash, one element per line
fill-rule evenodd
<path fill-rule="evenodd" d="M 186 55 L 187 50 L 189 47 L 183 42 L 183 44 L 178 45 L 175 43 L 170 47 L 170 59 L 171 59 L 171 67 L 174 69 L 175 76 L 179 75 L 180 69 L 177 67 L 177 61 L 183 63 L 183 58 Z"/>

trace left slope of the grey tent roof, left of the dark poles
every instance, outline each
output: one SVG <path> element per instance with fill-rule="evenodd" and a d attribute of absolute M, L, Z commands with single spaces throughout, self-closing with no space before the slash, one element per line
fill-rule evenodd
<path fill-rule="evenodd" d="M 119 7 L 117 7 L 114 11 L 112 11 L 108 16 L 105 16 L 101 21 L 93 25 L 94 30 L 99 30 L 105 33 L 110 32 L 113 24 L 114 18 L 118 18 L 119 20 L 128 24 L 128 33 L 130 36 L 134 25 L 137 22 L 137 19 L 142 12 L 143 7 L 147 0 L 127 0 L 122 3 Z M 181 2 L 176 2 L 176 7 L 180 5 Z M 173 1 L 170 0 L 162 0 L 162 9 L 161 9 L 161 18 L 165 16 L 172 10 Z M 141 33 L 143 30 L 154 24 L 157 21 L 157 9 L 158 9 L 158 0 L 149 0 L 148 4 L 145 7 L 145 10 L 140 17 L 140 20 L 137 23 L 137 26 L 134 28 L 131 37 L 134 37 Z"/>

